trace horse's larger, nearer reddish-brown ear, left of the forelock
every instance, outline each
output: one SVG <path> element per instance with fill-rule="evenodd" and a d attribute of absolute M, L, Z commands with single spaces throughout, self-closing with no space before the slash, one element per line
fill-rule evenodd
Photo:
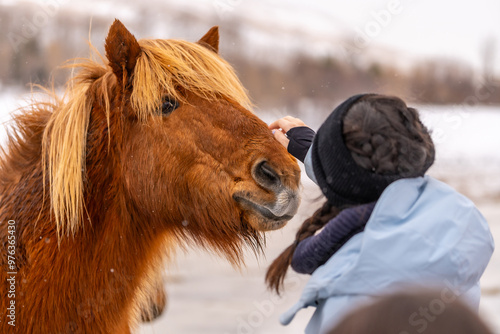
<path fill-rule="evenodd" d="M 134 35 L 125 28 L 123 23 L 115 19 L 111 25 L 104 45 L 109 66 L 118 80 L 129 80 L 134 73 L 141 47 Z"/>

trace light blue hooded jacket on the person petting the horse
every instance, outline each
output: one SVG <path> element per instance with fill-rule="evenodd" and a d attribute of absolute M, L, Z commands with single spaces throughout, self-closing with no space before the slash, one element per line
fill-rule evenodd
<path fill-rule="evenodd" d="M 306 333 L 323 333 L 348 311 L 388 291 L 437 288 L 477 309 L 479 278 L 493 253 L 488 224 L 474 204 L 432 177 L 401 179 L 377 201 L 365 231 L 352 237 L 306 284 L 286 325 L 317 309 Z"/>

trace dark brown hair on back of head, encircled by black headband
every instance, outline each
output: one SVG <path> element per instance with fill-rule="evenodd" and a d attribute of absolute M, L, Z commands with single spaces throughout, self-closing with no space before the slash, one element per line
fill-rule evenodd
<path fill-rule="evenodd" d="M 418 112 L 397 97 L 370 95 L 344 116 L 354 161 L 377 174 L 417 177 L 434 161 L 434 144 Z"/>

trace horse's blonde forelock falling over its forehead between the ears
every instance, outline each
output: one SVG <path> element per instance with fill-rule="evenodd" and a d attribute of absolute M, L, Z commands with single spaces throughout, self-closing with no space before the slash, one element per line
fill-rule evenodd
<path fill-rule="evenodd" d="M 139 44 L 142 54 L 131 95 L 139 119 L 157 113 L 164 96 L 189 103 L 178 88 L 208 100 L 224 97 L 251 109 L 247 91 L 233 68 L 212 50 L 182 40 L 140 40 Z"/>

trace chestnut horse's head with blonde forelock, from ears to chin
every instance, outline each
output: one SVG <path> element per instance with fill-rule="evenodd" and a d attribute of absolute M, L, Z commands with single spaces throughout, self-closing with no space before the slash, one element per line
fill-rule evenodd
<path fill-rule="evenodd" d="M 249 111 L 218 43 L 217 27 L 197 43 L 137 41 L 115 21 L 105 45 L 118 88 L 109 141 L 120 143 L 119 179 L 136 221 L 236 260 L 239 241 L 259 246 L 261 231 L 294 216 L 300 170 Z"/>

